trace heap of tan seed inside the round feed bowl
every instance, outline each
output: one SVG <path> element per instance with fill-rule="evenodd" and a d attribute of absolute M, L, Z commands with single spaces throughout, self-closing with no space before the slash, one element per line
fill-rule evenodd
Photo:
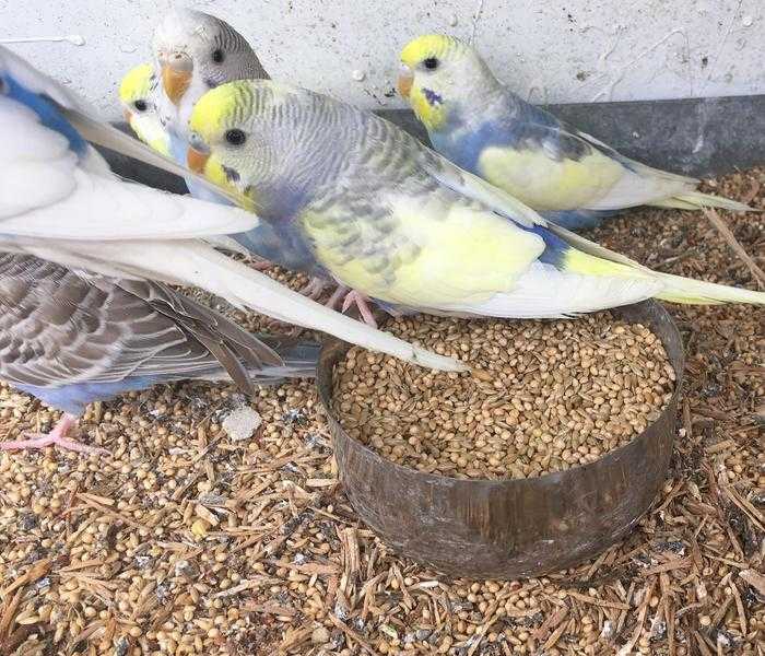
<path fill-rule="evenodd" d="M 591 462 L 655 421 L 674 371 L 661 340 L 608 312 L 575 320 L 409 317 L 395 335 L 469 362 L 435 373 L 351 349 L 334 409 L 355 440 L 457 478 L 529 478 Z"/>

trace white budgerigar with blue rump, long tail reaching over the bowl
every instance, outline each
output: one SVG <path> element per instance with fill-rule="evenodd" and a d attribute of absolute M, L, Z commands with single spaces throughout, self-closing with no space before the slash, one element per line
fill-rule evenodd
<path fill-rule="evenodd" d="M 236 307 L 425 366 L 464 368 L 332 312 L 216 251 L 207 238 L 251 230 L 258 216 L 125 181 L 85 138 L 176 175 L 188 173 L 97 121 L 67 89 L 0 48 L 0 251 L 110 279 L 197 285 Z"/>

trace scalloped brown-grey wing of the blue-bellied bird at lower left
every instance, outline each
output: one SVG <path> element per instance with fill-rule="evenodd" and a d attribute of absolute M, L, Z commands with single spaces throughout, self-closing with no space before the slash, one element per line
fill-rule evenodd
<path fill-rule="evenodd" d="M 251 393 L 249 374 L 282 364 L 257 337 L 166 285 L 0 254 L 0 377 L 12 383 L 160 382 L 225 370 Z"/>

